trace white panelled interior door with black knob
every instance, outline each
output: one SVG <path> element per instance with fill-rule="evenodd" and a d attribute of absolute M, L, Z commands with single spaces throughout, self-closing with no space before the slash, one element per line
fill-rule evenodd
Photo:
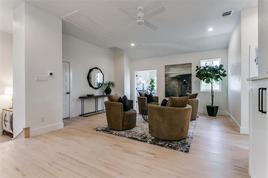
<path fill-rule="evenodd" d="M 70 117 L 70 63 L 62 62 L 62 118 Z"/>

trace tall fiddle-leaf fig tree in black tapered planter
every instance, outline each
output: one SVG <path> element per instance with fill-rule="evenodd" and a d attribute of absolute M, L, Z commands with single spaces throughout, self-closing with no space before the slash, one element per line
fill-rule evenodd
<path fill-rule="evenodd" d="M 217 115 L 219 106 L 214 106 L 213 99 L 214 99 L 214 91 L 213 91 L 213 81 L 219 81 L 222 80 L 222 77 L 226 77 L 225 74 L 226 70 L 223 69 L 223 65 L 220 64 L 219 66 L 196 66 L 196 77 L 199 80 L 202 80 L 203 82 L 210 83 L 211 84 L 211 105 L 207 105 L 207 112 L 209 116 L 215 117 Z"/>

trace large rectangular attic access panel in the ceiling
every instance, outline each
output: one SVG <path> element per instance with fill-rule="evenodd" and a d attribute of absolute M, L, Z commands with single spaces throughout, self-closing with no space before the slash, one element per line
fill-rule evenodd
<path fill-rule="evenodd" d="M 90 17 L 81 10 L 77 10 L 61 18 L 67 22 L 73 23 L 80 28 L 93 33 L 98 37 L 104 37 L 112 34 L 116 34 L 111 28 L 105 26 L 94 18 Z"/>

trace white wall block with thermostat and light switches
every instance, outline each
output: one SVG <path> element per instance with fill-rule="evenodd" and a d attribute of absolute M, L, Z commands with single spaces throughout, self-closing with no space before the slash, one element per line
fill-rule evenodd
<path fill-rule="evenodd" d="M 24 19 L 21 18 L 23 16 Z M 16 133 L 22 130 L 23 123 L 18 120 L 24 114 L 16 96 L 24 93 L 25 126 L 30 127 L 30 136 L 62 128 L 62 22 L 59 18 L 27 3 L 14 9 L 13 18 L 15 23 L 20 23 L 13 30 L 13 83 L 14 93 L 16 92 L 14 125 L 20 123 L 21 126 L 16 127 Z M 23 38 L 25 46 L 18 46 Z M 18 56 L 22 54 L 18 53 L 19 51 L 24 51 L 24 59 L 23 56 Z M 22 63 L 22 66 L 18 66 L 17 63 Z M 22 68 L 22 72 L 15 72 L 19 67 Z M 35 81 L 36 75 L 45 76 L 48 71 L 54 72 L 54 77 L 49 77 L 48 82 Z M 18 90 L 19 88 L 21 90 Z M 22 97 L 21 99 L 23 102 Z M 44 116 L 44 122 L 40 122 L 41 116 Z"/>

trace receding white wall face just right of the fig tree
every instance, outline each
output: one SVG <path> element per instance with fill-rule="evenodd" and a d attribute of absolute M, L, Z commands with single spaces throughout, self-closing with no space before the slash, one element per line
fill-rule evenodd
<path fill-rule="evenodd" d="M 241 15 L 230 36 L 228 74 L 228 113 L 241 126 L 241 80 L 238 81 L 238 77 L 241 77 Z"/>

